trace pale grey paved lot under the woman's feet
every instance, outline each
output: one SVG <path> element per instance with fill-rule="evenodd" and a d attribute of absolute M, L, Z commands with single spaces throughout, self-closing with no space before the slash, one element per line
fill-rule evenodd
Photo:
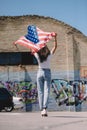
<path fill-rule="evenodd" d="M 1 112 L 0 130 L 83 130 L 87 129 L 87 112 Z"/>

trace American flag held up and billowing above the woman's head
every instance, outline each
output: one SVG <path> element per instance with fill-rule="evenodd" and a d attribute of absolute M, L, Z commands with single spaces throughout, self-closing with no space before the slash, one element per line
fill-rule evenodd
<path fill-rule="evenodd" d="M 38 52 L 54 36 L 54 32 L 44 32 L 34 25 L 29 25 L 28 33 L 20 37 L 14 44 L 20 44 L 31 49 L 33 52 Z"/>

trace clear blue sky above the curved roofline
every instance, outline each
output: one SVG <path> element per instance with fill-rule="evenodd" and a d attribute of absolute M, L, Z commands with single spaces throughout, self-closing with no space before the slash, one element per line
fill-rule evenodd
<path fill-rule="evenodd" d="M 87 36 L 87 0 L 0 0 L 0 16 L 22 15 L 51 17 Z"/>

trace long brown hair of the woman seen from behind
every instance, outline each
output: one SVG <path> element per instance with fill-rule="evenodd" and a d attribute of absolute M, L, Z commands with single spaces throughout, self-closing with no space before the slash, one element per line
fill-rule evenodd
<path fill-rule="evenodd" d="M 40 62 L 43 62 L 43 61 L 46 61 L 48 55 L 50 55 L 50 50 L 48 49 L 47 46 L 45 46 L 42 49 L 40 49 L 37 53 L 39 55 Z"/>

